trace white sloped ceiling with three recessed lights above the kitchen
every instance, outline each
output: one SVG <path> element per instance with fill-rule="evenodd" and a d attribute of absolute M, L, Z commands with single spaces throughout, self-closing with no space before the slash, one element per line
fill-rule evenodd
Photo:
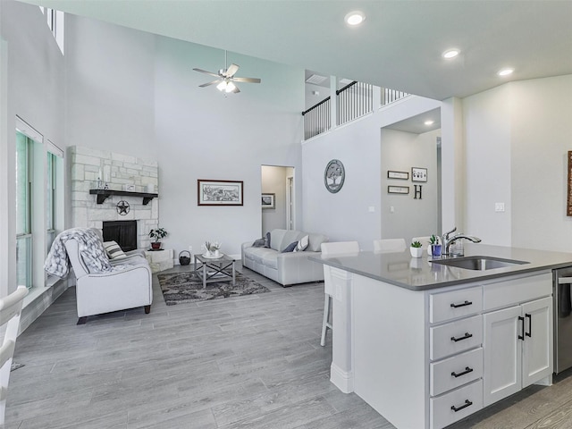
<path fill-rule="evenodd" d="M 570 0 L 26 2 L 438 100 L 572 73 Z M 461 55 L 443 60 L 450 47 Z"/>

